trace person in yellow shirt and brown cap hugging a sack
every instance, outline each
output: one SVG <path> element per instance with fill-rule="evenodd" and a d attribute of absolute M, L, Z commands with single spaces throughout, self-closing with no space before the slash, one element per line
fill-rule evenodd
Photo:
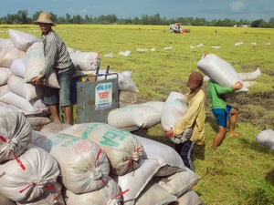
<path fill-rule="evenodd" d="M 186 84 L 190 92 L 185 94 L 189 108 L 174 128 L 164 130 L 168 137 L 185 138 L 182 144 L 175 145 L 175 149 L 183 159 L 184 165 L 192 170 L 195 170 L 191 159 L 193 147 L 195 143 L 205 144 L 205 92 L 201 89 L 202 86 L 203 75 L 200 72 L 192 73 Z M 185 135 L 184 131 L 188 134 Z"/>

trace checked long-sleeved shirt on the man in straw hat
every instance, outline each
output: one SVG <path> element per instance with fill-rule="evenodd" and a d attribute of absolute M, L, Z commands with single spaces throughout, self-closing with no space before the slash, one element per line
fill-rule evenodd
<path fill-rule="evenodd" d="M 50 30 L 47 35 L 42 34 L 45 55 L 45 67 L 39 77 L 47 76 L 52 68 L 64 70 L 71 66 L 72 60 L 69 56 L 67 46 L 62 39 Z"/>

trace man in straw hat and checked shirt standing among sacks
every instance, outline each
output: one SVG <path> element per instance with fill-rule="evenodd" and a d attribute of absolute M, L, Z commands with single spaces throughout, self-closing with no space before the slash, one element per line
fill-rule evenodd
<path fill-rule="evenodd" d="M 51 28 L 51 26 L 55 26 L 51 20 L 51 15 L 41 13 L 34 24 L 38 25 L 42 31 L 45 67 L 40 75 L 33 79 L 33 82 L 42 85 L 50 70 L 56 71 L 60 88 L 46 87 L 43 102 L 49 108 L 54 122 L 61 122 L 58 114 L 58 107 L 60 107 L 64 110 L 65 123 L 72 124 L 73 109 L 70 101 L 70 84 L 75 67 L 69 56 L 67 46 Z"/>

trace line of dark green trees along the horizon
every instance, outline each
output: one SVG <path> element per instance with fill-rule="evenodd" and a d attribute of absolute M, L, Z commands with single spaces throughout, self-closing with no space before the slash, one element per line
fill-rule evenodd
<path fill-rule="evenodd" d="M 33 21 L 37 20 L 38 15 L 42 11 L 37 11 L 31 17 L 28 15 L 27 10 L 19 10 L 17 14 L 8 14 L 4 17 L 0 17 L 0 24 L 32 24 Z M 161 17 L 159 14 L 156 15 L 142 15 L 141 17 L 133 18 L 117 18 L 116 15 L 100 15 L 94 17 L 92 15 L 69 15 L 58 16 L 50 13 L 53 22 L 57 24 L 118 24 L 118 25 L 172 25 L 175 22 L 181 22 L 182 25 L 189 26 L 251 26 L 251 27 L 274 27 L 274 17 L 269 18 L 269 22 L 266 22 L 262 18 L 255 21 L 239 20 L 235 21 L 229 18 L 225 19 L 214 19 L 206 21 L 205 18 L 201 17 L 177 17 L 173 19 L 167 19 Z"/>

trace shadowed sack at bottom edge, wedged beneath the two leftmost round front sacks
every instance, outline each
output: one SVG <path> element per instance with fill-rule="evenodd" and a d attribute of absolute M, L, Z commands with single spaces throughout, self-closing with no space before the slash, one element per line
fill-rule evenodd
<path fill-rule="evenodd" d="M 43 195 L 38 197 L 35 200 L 19 203 L 17 205 L 66 205 L 62 194 L 62 184 L 59 181 L 56 181 L 55 185 L 52 186 L 54 189 L 46 189 Z"/>

